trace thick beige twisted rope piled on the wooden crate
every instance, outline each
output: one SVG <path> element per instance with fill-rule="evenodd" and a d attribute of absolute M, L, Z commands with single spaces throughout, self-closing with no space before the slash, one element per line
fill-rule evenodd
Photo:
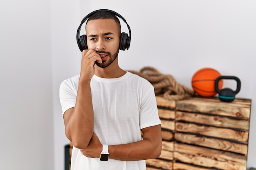
<path fill-rule="evenodd" d="M 172 75 L 159 73 L 153 67 L 143 67 L 138 71 L 129 71 L 147 79 L 155 89 L 155 95 L 163 95 L 168 100 L 181 100 L 186 96 L 195 95 L 195 92 L 175 81 Z"/>

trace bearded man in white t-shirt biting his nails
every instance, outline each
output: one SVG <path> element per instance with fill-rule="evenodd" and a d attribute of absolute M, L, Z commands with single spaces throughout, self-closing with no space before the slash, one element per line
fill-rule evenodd
<path fill-rule="evenodd" d="M 146 170 L 144 160 L 162 150 L 153 86 L 119 67 L 115 14 L 94 13 L 85 31 L 81 73 L 60 86 L 65 134 L 74 145 L 71 169 Z"/>

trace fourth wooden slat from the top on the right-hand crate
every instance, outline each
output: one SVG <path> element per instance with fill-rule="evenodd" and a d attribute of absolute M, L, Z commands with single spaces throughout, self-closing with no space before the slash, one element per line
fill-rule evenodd
<path fill-rule="evenodd" d="M 248 146 L 246 144 L 238 144 L 231 141 L 225 141 L 197 135 L 190 135 L 179 132 L 176 132 L 174 137 L 175 141 L 180 141 L 186 144 L 205 146 L 208 148 L 240 153 L 247 156 Z"/>

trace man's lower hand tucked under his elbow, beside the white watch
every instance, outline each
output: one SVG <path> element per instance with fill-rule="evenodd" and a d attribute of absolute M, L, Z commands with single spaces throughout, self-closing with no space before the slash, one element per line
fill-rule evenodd
<path fill-rule="evenodd" d="M 99 158 L 102 151 L 102 144 L 95 133 L 92 135 L 89 145 L 85 149 L 80 149 L 82 154 L 88 158 Z"/>

